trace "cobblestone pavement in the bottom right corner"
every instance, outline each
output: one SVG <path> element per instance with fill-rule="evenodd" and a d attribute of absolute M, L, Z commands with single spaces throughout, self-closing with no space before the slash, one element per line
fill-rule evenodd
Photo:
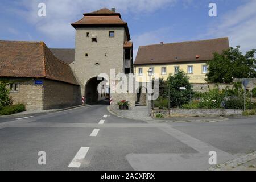
<path fill-rule="evenodd" d="M 256 171 L 256 151 L 210 167 L 208 171 Z"/>

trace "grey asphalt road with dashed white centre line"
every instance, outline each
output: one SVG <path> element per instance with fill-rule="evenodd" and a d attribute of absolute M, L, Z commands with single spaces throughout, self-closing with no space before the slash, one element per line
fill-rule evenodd
<path fill-rule="evenodd" d="M 106 107 L 0 118 L 0 170 L 204 170 L 209 151 L 218 163 L 256 151 L 256 117 L 145 122 Z M 46 165 L 38 164 L 39 151 Z"/>

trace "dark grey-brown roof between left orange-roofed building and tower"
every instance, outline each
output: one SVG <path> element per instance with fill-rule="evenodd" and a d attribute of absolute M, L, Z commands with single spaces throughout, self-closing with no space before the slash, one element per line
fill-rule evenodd
<path fill-rule="evenodd" d="M 60 59 L 67 64 L 71 64 L 75 61 L 75 49 L 50 48 L 50 50 L 57 59 Z"/>

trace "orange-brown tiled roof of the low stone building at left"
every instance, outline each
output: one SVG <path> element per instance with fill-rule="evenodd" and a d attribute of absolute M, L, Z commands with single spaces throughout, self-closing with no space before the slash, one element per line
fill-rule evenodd
<path fill-rule="evenodd" d="M 0 77 L 48 78 L 79 85 L 69 65 L 44 42 L 0 41 Z"/>

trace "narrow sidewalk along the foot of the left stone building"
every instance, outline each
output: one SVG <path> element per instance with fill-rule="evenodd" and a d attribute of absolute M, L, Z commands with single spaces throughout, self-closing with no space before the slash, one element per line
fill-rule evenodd
<path fill-rule="evenodd" d="M 46 114 L 46 113 L 55 113 L 58 111 L 63 111 L 63 110 L 68 110 L 68 109 L 75 109 L 77 107 L 83 107 L 86 105 L 77 105 L 77 106 L 72 106 L 72 107 L 66 107 L 63 109 L 49 109 L 49 110 L 31 110 L 31 111 L 23 111 L 21 113 L 16 113 L 16 114 L 11 114 L 11 115 L 0 115 L 0 118 L 9 118 L 9 117 L 23 117 L 26 115 L 31 115 L 31 114 Z"/>

